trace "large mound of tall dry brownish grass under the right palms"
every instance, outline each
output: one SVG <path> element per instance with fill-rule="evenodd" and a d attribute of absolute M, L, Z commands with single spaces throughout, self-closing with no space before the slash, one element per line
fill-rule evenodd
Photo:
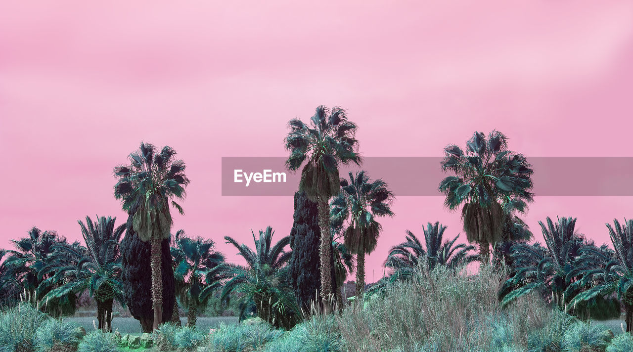
<path fill-rule="evenodd" d="M 422 264 L 423 266 L 423 264 Z M 501 308 L 497 293 L 504 269 L 481 268 L 475 275 L 443 267 L 414 272 L 387 285 L 365 307 L 338 315 L 344 351 L 525 351 L 530 333 L 550 324 L 555 312 L 538 294 Z M 496 322 L 496 324 L 491 324 Z M 458 333 L 456 333 L 458 332 Z"/>

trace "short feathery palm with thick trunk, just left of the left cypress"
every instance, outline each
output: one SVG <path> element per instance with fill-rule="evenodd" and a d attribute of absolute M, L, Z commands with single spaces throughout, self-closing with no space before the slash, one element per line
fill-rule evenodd
<path fill-rule="evenodd" d="M 115 227 L 116 218 L 98 216 L 94 222 L 90 217 L 85 217 L 85 223 L 77 222 L 86 247 L 78 244 L 53 246 L 54 253 L 42 272 L 53 274 L 46 284 L 55 288 L 46 294 L 44 301 L 88 290 L 97 302 L 98 328 L 112 332 L 113 301 L 125 306 L 119 253 L 125 223 Z"/>

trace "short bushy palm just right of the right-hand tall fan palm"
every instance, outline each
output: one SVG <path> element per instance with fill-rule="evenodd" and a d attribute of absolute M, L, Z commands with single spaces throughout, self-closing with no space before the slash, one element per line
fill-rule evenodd
<path fill-rule="evenodd" d="M 575 267 L 580 249 L 587 242 L 575 231 L 576 218 L 551 218 L 546 224 L 539 222 L 546 247 L 536 244 L 517 244 L 512 248 L 515 275 L 506 280 L 499 291 L 503 306 L 534 290 L 540 290 L 544 298 L 564 307 L 569 301 L 567 287 L 573 284 Z"/>

